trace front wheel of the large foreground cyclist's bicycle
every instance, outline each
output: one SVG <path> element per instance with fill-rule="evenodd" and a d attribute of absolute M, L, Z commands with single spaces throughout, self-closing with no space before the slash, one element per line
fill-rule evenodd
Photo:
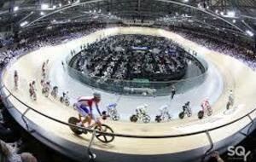
<path fill-rule="evenodd" d="M 102 131 L 104 133 L 113 133 L 113 130 L 107 124 L 96 125 L 94 129 L 98 131 Z M 99 132 L 99 133 L 96 133 L 96 138 L 103 143 L 109 143 L 109 142 L 113 142 L 114 136 L 102 135 L 102 133 Z"/>

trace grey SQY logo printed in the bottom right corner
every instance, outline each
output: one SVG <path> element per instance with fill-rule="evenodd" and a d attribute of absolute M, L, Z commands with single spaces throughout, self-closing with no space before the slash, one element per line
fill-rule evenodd
<path fill-rule="evenodd" d="M 228 155 L 230 157 L 233 156 L 238 156 L 241 157 L 241 159 L 243 159 L 244 162 L 247 162 L 247 157 L 251 154 L 251 151 L 246 151 L 246 149 L 242 146 L 238 146 L 238 147 L 234 147 L 234 146 L 230 146 L 228 148 Z"/>

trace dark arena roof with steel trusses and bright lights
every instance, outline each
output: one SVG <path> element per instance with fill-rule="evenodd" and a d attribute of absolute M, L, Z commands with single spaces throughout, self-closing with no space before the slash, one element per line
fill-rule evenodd
<path fill-rule="evenodd" d="M 195 26 L 253 36 L 255 0 L 5 0 L 0 23 L 30 27 L 124 20 L 165 26 Z"/>

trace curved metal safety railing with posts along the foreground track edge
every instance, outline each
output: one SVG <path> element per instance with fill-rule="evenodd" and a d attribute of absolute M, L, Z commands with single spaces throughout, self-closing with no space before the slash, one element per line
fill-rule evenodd
<path fill-rule="evenodd" d="M 24 113 L 20 113 L 21 114 L 21 117 L 23 119 L 23 122 L 26 124 L 26 130 L 28 131 L 31 131 L 30 128 L 29 128 L 29 124 L 27 123 L 27 120 L 25 119 L 26 118 L 26 113 L 28 111 L 33 111 L 34 113 L 38 113 L 39 115 L 43 116 L 44 118 L 46 119 L 50 119 L 50 120 L 53 120 L 54 122 L 57 122 L 59 124 L 64 124 L 64 125 L 67 125 L 67 126 L 72 126 L 76 129 L 79 129 L 79 130 L 84 130 L 84 131 L 88 131 L 90 133 L 92 133 L 92 137 L 90 139 L 90 144 L 88 146 L 88 154 L 89 154 L 89 157 L 91 159 L 94 159 L 96 158 L 96 154 L 92 153 L 91 151 L 91 146 L 92 146 L 92 143 L 93 143 L 93 140 L 96 136 L 96 134 L 101 134 L 102 136 L 118 136 L 118 137 L 126 137 L 126 138 L 142 138 L 142 139 L 160 139 L 160 138 L 175 138 L 175 137 L 183 137 L 183 136 L 195 136 L 195 135 L 199 135 L 199 134 L 205 134 L 207 136 L 207 139 L 208 139 L 208 142 L 209 142 L 209 145 L 210 145 L 210 148 L 207 149 L 207 152 L 204 154 L 203 158 L 202 158 L 202 161 L 207 157 L 207 155 L 209 153 L 211 153 L 212 151 L 212 148 L 214 146 L 214 143 L 212 142 L 212 136 L 210 135 L 210 132 L 212 130 L 218 130 L 218 129 L 221 129 L 221 128 L 224 128 L 225 126 L 228 126 L 230 124 L 235 124 L 236 122 L 240 121 L 241 119 L 245 119 L 245 118 L 248 118 L 250 119 L 250 126 L 247 130 L 247 134 L 244 134 L 245 136 L 248 136 L 248 134 L 250 133 L 250 130 L 253 126 L 253 118 L 250 116 L 252 113 L 254 113 L 256 111 L 256 108 L 253 109 L 252 111 L 250 111 L 249 113 L 241 116 L 240 118 L 238 119 L 235 119 L 235 120 L 232 120 L 226 124 L 222 124 L 222 125 L 219 125 L 219 126 L 216 126 L 216 127 L 213 127 L 211 129 L 206 129 L 206 130 L 199 130 L 199 131 L 195 131 L 195 132 L 190 132 L 190 133 L 184 133 L 184 134 L 177 134 L 177 135 L 164 135 L 164 136 L 141 136 L 141 135 L 125 135 L 125 134 L 119 134 L 119 133 L 108 133 L 108 132 L 103 132 L 103 131 L 100 131 L 100 130 L 95 130 L 95 129 L 90 129 L 90 128 L 84 128 L 84 127 L 81 127 L 81 126 L 78 126 L 78 125 L 75 125 L 75 124 L 69 124 L 69 123 L 66 123 L 66 122 L 63 122 L 59 119 L 55 119 L 55 118 L 52 118 L 44 113 L 41 113 L 39 112 L 38 110 L 28 106 L 24 101 L 20 101 L 20 98 L 18 98 L 17 96 L 15 96 L 14 94 L 12 94 L 12 92 L 5 86 L 3 85 L 2 88 L 0 90 L 2 90 L 2 93 L 3 93 L 3 89 L 5 89 L 9 94 L 4 94 L 5 97 L 5 104 L 9 107 L 9 101 L 7 101 L 7 99 L 9 98 L 9 96 L 12 96 L 13 98 L 15 98 L 16 101 L 19 101 L 22 105 L 24 105 L 26 108 L 26 111 Z M 248 124 L 247 124 L 248 125 Z M 246 125 L 246 126 L 247 126 Z M 246 127 L 245 126 L 245 127 Z"/>

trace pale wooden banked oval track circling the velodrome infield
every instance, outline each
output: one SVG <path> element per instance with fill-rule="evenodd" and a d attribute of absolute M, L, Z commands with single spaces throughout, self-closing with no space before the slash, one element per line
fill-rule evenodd
<path fill-rule="evenodd" d="M 227 124 L 233 120 L 239 119 L 242 116 L 250 113 L 256 108 L 256 72 L 253 72 L 249 67 L 231 58 L 227 55 L 222 55 L 217 52 L 205 49 L 200 45 L 186 40 L 173 32 L 167 32 L 162 29 L 142 28 L 142 27 L 116 27 L 95 32 L 94 37 L 107 37 L 110 31 L 116 33 L 147 33 L 148 35 L 160 35 L 167 38 L 172 38 L 177 43 L 183 45 L 185 49 L 193 49 L 198 51 L 207 61 L 210 61 L 221 73 L 224 80 L 224 90 L 221 96 L 213 105 L 212 117 L 198 120 L 196 116 L 190 119 L 176 119 L 169 123 L 160 124 L 133 124 L 128 122 L 113 122 L 111 120 L 104 121 L 113 128 L 115 133 L 132 136 L 172 136 L 193 133 L 200 130 L 209 130 L 211 128 Z M 79 47 L 79 44 L 84 41 L 92 41 L 92 39 L 79 38 L 64 43 L 55 47 L 46 47 L 38 49 L 27 55 L 21 56 L 17 61 L 12 61 L 3 71 L 3 93 L 9 95 L 9 91 L 23 101 L 29 107 L 33 107 L 41 113 L 44 113 L 52 118 L 67 122 L 71 116 L 78 116 L 78 113 L 71 107 L 62 105 L 59 101 L 51 98 L 45 98 L 38 93 L 38 101 L 32 101 L 28 95 L 28 84 L 37 78 L 39 84 L 41 66 L 44 61 L 49 59 L 49 65 L 55 64 L 61 56 L 61 51 L 73 49 L 73 46 Z M 52 50 L 54 48 L 54 50 Z M 54 52 L 53 52 L 54 51 Z M 49 66 L 51 67 L 51 66 Z M 60 67 L 61 68 L 61 67 Z M 20 76 L 19 90 L 14 90 L 13 74 L 18 70 Z M 60 79 L 65 79 L 61 78 Z M 72 86 L 72 84 L 70 85 Z M 236 112 L 224 114 L 224 109 L 229 94 L 229 90 L 235 92 Z M 40 87 L 38 86 L 38 90 Z M 91 92 L 90 92 L 91 93 Z M 26 106 L 17 101 L 13 95 L 10 95 L 8 100 L 12 103 L 16 110 L 20 113 L 26 111 Z M 256 118 L 256 113 L 250 114 L 252 119 Z M 67 125 L 56 123 L 53 120 L 47 119 L 38 113 L 28 111 L 26 119 L 38 125 L 41 129 L 49 132 L 49 135 L 54 135 L 65 141 L 72 142 L 80 146 L 88 146 L 90 142 L 90 134 L 83 136 L 74 136 Z M 19 121 L 22 122 L 22 121 Z M 249 118 L 243 118 L 234 124 L 227 125 L 223 128 L 209 131 L 213 143 L 221 142 L 222 140 L 236 134 L 245 126 L 250 124 Z M 236 140 L 236 139 L 235 139 Z M 60 144 L 61 145 L 61 144 Z M 108 144 L 103 144 L 95 140 L 92 148 L 102 151 L 102 153 L 115 153 L 126 155 L 163 155 L 172 153 L 182 153 L 189 150 L 209 148 L 209 139 L 206 133 L 200 133 L 192 136 L 179 136 L 172 138 L 128 138 L 116 136 L 114 141 Z M 67 147 L 68 148 L 68 147 Z M 74 151 L 74 150 L 73 150 Z M 204 152 L 202 151 L 201 154 Z M 199 153 L 200 154 L 200 153 Z M 100 155 L 99 155 L 100 156 Z M 175 161 L 175 160 L 174 160 Z M 178 161 L 178 160 L 177 160 Z"/>

